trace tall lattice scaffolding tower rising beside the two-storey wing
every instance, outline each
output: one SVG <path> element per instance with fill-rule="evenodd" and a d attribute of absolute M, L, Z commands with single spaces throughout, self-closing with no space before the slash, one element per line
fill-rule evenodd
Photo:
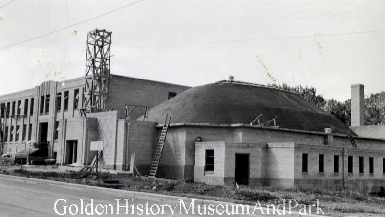
<path fill-rule="evenodd" d="M 105 111 L 109 92 L 111 34 L 95 29 L 87 34 L 85 112 Z"/>

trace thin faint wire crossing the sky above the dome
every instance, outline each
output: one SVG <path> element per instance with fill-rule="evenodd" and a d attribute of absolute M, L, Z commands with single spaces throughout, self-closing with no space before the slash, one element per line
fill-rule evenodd
<path fill-rule="evenodd" d="M 303 35 L 303 36 L 286 36 L 286 37 L 273 37 L 273 38 L 260 38 L 260 39 L 206 41 L 206 42 L 192 42 L 192 43 L 178 43 L 178 44 L 139 45 L 139 46 L 128 46 L 128 47 L 129 48 L 147 48 L 147 47 L 188 46 L 188 45 L 199 45 L 199 44 L 222 44 L 222 43 L 248 42 L 248 41 L 258 41 L 258 40 L 298 39 L 298 38 L 312 38 L 312 37 L 351 35 L 351 34 L 376 33 L 376 32 L 385 32 L 385 29 L 384 30 L 372 30 L 372 31 L 346 32 L 346 33 L 315 34 L 315 35 Z"/>

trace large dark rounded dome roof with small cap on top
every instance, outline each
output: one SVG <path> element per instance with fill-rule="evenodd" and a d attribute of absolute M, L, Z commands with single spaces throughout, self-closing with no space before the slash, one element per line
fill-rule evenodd
<path fill-rule="evenodd" d="M 278 116 L 280 128 L 321 132 L 331 128 L 333 133 L 356 135 L 341 120 L 297 94 L 241 82 L 221 81 L 190 88 L 150 109 L 149 121 L 163 124 L 168 113 L 172 114 L 171 123 L 208 124 L 250 124 L 262 114 L 261 122 Z"/>

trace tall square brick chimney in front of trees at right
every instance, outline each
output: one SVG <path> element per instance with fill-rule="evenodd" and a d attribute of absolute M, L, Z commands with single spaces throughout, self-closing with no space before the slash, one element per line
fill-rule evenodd
<path fill-rule="evenodd" d="M 362 126 L 364 125 L 364 85 L 352 84 L 351 92 L 351 125 Z"/>

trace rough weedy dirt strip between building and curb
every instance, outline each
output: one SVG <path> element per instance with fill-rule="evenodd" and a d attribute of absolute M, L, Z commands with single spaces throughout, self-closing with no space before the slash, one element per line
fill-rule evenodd
<path fill-rule="evenodd" d="M 167 179 L 132 177 L 128 174 L 76 172 L 66 167 L 16 165 L 0 166 L 0 173 L 30 178 L 150 192 L 181 197 L 194 197 L 218 201 L 255 205 L 256 201 L 281 204 L 281 200 L 295 199 L 299 204 L 315 204 L 319 200 L 322 210 L 329 216 L 385 216 L 385 197 L 348 190 L 333 189 L 279 189 L 270 187 L 212 186 L 203 183 Z M 296 209 L 292 209 L 296 210 Z M 297 209 L 298 210 L 298 209 Z"/>

